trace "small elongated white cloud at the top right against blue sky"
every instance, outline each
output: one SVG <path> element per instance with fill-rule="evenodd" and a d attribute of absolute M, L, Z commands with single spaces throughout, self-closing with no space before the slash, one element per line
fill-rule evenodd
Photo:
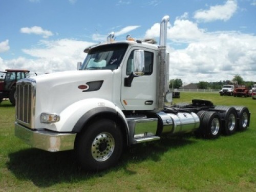
<path fill-rule="evenodd" d="M 236 0 L 228 0 L 224 5 L 211 6 L 208 10 L 196 11 L 194 18 L 198 22 L 212 22 L 214 20 L 228 20 L 237 11 Z"/>

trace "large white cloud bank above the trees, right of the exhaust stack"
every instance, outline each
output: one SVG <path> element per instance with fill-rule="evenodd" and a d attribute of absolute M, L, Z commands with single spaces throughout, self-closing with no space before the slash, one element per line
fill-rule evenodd
<path fill-rule="evenodd" d="M 241 75 L 254 81 L 256 37 L 238 32 L 205 34 L 185 49 L 171 50 L 170 76 L 184 82 L 231 80 Z"/>

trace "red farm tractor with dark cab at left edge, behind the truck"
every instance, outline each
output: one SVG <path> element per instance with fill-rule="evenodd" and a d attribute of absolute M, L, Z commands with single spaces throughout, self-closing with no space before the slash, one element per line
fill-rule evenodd
<path fill-rule="evenodd" d="M 23 69 L 7 69 L 1 75 L 2 81 L 0 81 L 0 103 L 4 98 L 9 98 L 10 102 L 15 105 L 15 91 L 16 91 L 16 82 L 20 79 L 24 79 L 29 76 L 28 70 Z"/>

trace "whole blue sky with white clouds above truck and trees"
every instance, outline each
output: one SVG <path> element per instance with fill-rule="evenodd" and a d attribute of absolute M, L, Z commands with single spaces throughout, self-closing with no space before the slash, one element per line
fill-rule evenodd
<path fill-rule="evenodd" d="M 0 0 L 0 71 L 75 70 L 112 31 L 159 41 L 164 15 L 170 79 L 256 81 L 256 0 Z"/>

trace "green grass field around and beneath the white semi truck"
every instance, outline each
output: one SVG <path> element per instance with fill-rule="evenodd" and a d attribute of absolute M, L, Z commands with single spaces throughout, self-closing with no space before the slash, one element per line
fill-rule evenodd
<path fill-rule="evenodd" d="M 0 104 L 0 191 L 256 191 L 256 100 L 218 93 L 181 93 L 216 105 L 245 105 L 250 127 L 216 140 L 193 135 L 142 143 L 100 173 L 84 172 L 73 151 L 50 153 L 14 136 L 15 108 Z"/>

